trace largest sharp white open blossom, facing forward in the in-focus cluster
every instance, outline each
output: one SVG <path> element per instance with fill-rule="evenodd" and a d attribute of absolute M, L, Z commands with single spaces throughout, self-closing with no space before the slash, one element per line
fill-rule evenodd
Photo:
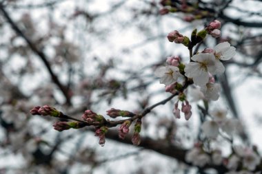
<path fill-rule="evenodd" d="M 195 85 L 203 86 L 208 83 L 208 72 L 213 75 L 221 72 L 221 66 L 216 65 L 214 54 L 199 53 L 192 56 L 192 60 L 195 62 L 185 65 L 185 76 L 193 78 Z"/>

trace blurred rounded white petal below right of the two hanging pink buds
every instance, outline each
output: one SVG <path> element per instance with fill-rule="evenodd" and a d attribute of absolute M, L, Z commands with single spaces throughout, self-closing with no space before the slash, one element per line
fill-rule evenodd
<path fill-rule="evenodd" d="M 208 138 L 216 138 L 219 135 L 219 125 L 212 120 L 205 121 L 201 128 Z"/>

